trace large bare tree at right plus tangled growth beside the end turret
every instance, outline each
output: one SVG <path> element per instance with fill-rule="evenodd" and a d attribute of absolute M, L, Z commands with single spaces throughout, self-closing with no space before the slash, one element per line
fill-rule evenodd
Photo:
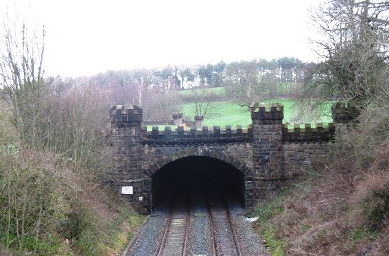
<path fill-rule="evenodd" d="M 301 106 L 353 104 L 358 123 L 338 137 L 338 147 L 364 168 L 389 139 L 388 16 L 389 2 L 379 0 L 329 0 L 313 14 L 323 61 L 307 74 Z"/>

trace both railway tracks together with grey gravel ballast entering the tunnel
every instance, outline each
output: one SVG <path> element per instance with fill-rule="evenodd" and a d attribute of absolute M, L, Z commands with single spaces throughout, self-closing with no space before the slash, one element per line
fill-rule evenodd
<path fill-rule="evenodd" d="M 198 193 L 202 192 L 199 191 Z M 224 196 L 219 194 L 219 191 L 210 191 L 208 194 L 204 194 L 204 198 L 200 201 L 197 199 L 190 202 L 189 199 L 189 196 L 172 199 L 170 200 L 170 207 L 165 209 L 165 213 L 168 211 L 167 215 L 152 216 L 152 218 L 155 218 L 152 220 L 156 223 L 158 223 L 158 218 L 163 221 L 161 227 L 157 229 L 160 235 L 158 235 L 158 238 L 155 236 L 153 241 L 144 244 L 144 246 L 137 244 L 127 255 L 243 255 L 237 239 L 239 228 L 235 231 Z M 196 212 L 192 212 L 193 216 L 191 216 L 191 211 L 193 211 L 191 203 L 202 205 L 204 213 L 201 214 L 203 215 L 198 213 L 196 216 Z M 201 206 L 198 209 L 201 209 Z M 207 218 L 207 221 L 204 222 L 200 218 Z M 198 226 L 199 222 L 202 222 L 203 226 Z M 161 230 L 163 231 L 162 235 Z M 191 232 L 190 240 L 189 231 Z M 142 236 L 147 237 L 148 235 L 143 234 Z M 198 237 L 202 238 L 199 240 Z"/>

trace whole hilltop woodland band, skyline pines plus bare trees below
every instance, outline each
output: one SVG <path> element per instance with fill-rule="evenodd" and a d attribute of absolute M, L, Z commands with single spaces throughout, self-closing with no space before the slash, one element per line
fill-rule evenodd
<path fill-rule="evenodd" d="M 91 84 L 102 91 L 110 104 L 137 104 L 143 107 L 145 119 L 169 119 L 178 111 L 182 99 L 177 92 L 190 89 L 223 87 L 224 100 L 240 106 L 263 98 L 294 97 L 296 86 L 303 81 L 311 67 L 298 58 L 278 60 L 241 60 L 219 62 L 196 67 L 167 66 L 162 69 L 123 69 L 106 71 L 89 77 L 47 78 L 56 88 L 70 88 L 73 84 Z M 193 94 L 198 95 L 199 93 Z M 193 95 L 193 100 L 198 97 Z"/>

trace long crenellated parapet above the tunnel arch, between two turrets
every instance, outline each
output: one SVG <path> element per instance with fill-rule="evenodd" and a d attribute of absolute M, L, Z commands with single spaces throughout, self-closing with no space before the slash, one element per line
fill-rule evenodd
<path fill-rule="evenodd" d="M 231 125 L 225 128 L 220 126 L 202 126 L 198 130 L 197 126 L 190 126 L 189 130 L 184 130 L 183 126 L 172 129 L 171 126 L 165 126 L 164 130 L 159 130 L 154 126 L 152 131 L 147 131 L 147 127 L 141 127 L 143 143 L 189 143 L 189 142 L 243 142 L 251 141 L 252 125 L 243 129 L 238 125 L 235 129 Z"/>

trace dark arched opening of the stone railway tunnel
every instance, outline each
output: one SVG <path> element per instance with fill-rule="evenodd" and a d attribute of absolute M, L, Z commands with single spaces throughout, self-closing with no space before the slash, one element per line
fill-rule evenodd
<path fill-rule="evenodd" d="M 152 176 L 151 208 L 156 209 L 172 195 L 222 193 L 244 207 L 244 174 L 233 165 L 209 156 L 187 156 L 167 163 Z M 194 195 L 196 196 L 196 193 Z"/>

